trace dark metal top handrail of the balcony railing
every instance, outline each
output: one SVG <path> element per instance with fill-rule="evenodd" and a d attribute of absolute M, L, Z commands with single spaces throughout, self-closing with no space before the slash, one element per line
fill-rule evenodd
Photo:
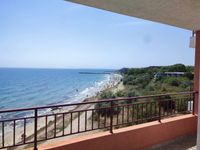
<path fill-rule="evenodd" d="M 49 106 L 41 106 L 41 107 L 29 107 L 29 108 L 18 108 L 18 109 L 7 109 L 7 110 L 0 110 L 0 113 L 8 113 L 8 112 L 17 112 L 17 111 L 34 111 L 35 109 L 47 109 L 47 108 L 56 108 L 56 107 L 68 107 L 68 106 L 79 106 L 79 105 L 86 105 L 86 104 L 95 104 L 95 103 L 103 103 L 103 102 L 110 102 L 110 101 L 122 101 L 122 100 L 136 100 L 136 99 L 144 99 L 144 98 L 152 98 L 152 97 L 161 97 L 161 96 L 168 96 L 168 95 L 186 95 L 186 94 L 195 94 L 198 93 L 196 91 L 191 92 L 178 92 L 178 93 L 168 93 L 168 94 L 158 94 L 158 95 L 147 95 L 147 96 L 137 96 L 137 97 L 126 97 L 126 98 L 115 98 L 115 99 L 102 99 L 97 101 L 88 101 L 88 102 L 81 102 L 81 103 L 72 103 L 72 104 L 60 104 L 60 105 L 49 105 Z"/>

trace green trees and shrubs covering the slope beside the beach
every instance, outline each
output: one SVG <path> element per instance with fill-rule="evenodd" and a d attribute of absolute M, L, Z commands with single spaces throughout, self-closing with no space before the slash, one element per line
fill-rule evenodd
<path fill-rule="evenodd" d="M 119 98 L 119 97 L 134 97 L 134 96 L 141 96 L 141 95 L 155 95 L 155 94 L 163 94 L 163 93 L 174 93 L 174 92 L 183 92 L 183 91 L 190 91 L 192 90 L 193 85 L 193 72 L 194 67 L 193 66 L 185 66 L 183 64 L 175 64 L 172 66 L 151 66 L 147 68 L 123 68 L 119 70 L 119 72 L 123 75 L 123 90 L 118 90 L 116 92 L 113 92 L 111 90 L 106 90 L 101 92 L 98 95 L 99 99 L 110 99 L 110 98 Z M 155 74 L 165 74 L 165 72 L 181 72 L 184 73 L 180 76 L 156 76 Z M 169 109 L 169 107 L 172 107 L 170 109 L 175 109 L 175 103 L 176 100 L 180 97 L 165 97 L 165 99 L 172 99 L 168 101 L 167 103 L 164 102 L 162 104 L 162 108 Z M 187 100 L 187 99 L 186 99 Z M 177 108 L 177 111 L 183 111 L 186 110 L 186 100 L 183 100 L 182 105 Z M 135 102 L 132 101 L 125 101 L 124 104 L 128 103 L 135 104 Z M 114 104 L 118 105 L 118 104 Z M 154 105 L 154 104 L 153 104 Z M 155 104 L 158 105 L 158 104 Z M 140 104 L 136 105 L 139 107 L 140 111 Z M 95 108 L 109 108 L 111 107 L 110 102 L 108 103 L 99 103 L 95 106 Z M 150 107 L 150 106 L 148 106 Z M 146 113 L 146 117 L 150 116 L 148 107 L 144 109 L 144 114 Z M 112 110 L 109 109 L 102 109 L 101 111 L 98 111 L 98 113 L 103 117 L 107 116 L 109 117 L 111 112 L 113 115 L 120 114 L 121 110 L 114 108 Z M 127 110 L 126 110 L 127 111 Z M 128 110 L 129 111 L 129 110 Z M 131 110 L 130 110 L 131 111 Z M 137 111 L 135 108 L 132 108 L 132 113 L 134 114 Z M 153 110 L 156 113 L 158 110 Z M 131 113 L 131 112 L 130 112 Z M 144 118 L 144 116 L 141 116 L 140 113 L 138 113 L 139 118 Z"/>

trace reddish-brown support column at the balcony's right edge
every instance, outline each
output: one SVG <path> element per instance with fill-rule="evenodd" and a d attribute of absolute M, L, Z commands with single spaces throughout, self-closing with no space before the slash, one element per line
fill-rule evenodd
<path fill-rule="evenodd" d="M 199 92 L 200 87 L 200 31 L 196 32 L 196 48 L 195 48 L 195 75 L 194 90 Z M 195 96 L 195 114 L 198 114 L 197 124 L 197 150 L 200 150 L 200 92 Z"/>

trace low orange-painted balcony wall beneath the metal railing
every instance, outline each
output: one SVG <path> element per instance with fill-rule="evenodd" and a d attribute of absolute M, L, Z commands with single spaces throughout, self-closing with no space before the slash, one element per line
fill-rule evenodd
<path fill-rule="evenodd" d="M 159 144 L 174 138 L 194 134 L 197 130 L 197 117 L 183 115 L 158 121 L 126 127 L 109 132 L 80 136 L 40 149 L 48 150 L 134 150 Z"/>

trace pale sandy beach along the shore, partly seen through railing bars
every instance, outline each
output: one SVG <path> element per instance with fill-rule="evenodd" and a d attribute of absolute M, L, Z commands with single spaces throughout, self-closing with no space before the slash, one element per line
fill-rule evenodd
<path fill-rule="evenodd" d="M 102 89 L 103 90 L 112 90 L 113 92 L 116 92 L 118 90 L 121 90 L 123 89 L 123 84 L 121 82 L 121 75 L 118 75 L 118 74 L 114 74 L 111 76 L 109 82 L 106 84 L 106 86 L 104 86 L 104 88 Z M 92 97 L 88 97 L 87 99 L 83 100 L 84 102 L 88 102 L 88 101 L 96 101 L 98 100 L 97 99 L 97 95 L 99 93 L 96 93 L 95 96 L 92 96 Z M 87 105 L 80 105 L 80 106 L 77 106 L 77 107 L 71 107 L 71 108 L 62 108 L 62 109 L 55 109 L 55 110 L 52 110 L 52 113 L 53 114 L 58 114 L 58 113 L 66 113 L 66 112 L 69 112 L 69 111 L 78 111 L 78 110 L 86 110 L 86 109 L 93 109 L 94 108 L 94 104 L 87 104 Z M 88 111 L 87 112 L 87 116 L 85 116 L 85 113 L 80 113 L 80 119 L 78 120 L 78 113 L 73 113 L 73 116 L 72 116 L 72 125 L 70 124 L 70 113 L 69 114 L 66 114 L 64 116 L 64 122 L 65 122 L 65 125 L 64 125 L 64 132 L 65 134 L 70 134 L 70 132 L 72 133 L 75 133 L 78 131 L 78 128 L 77 128 L 77 125 L 78 125 L 78 122 L 80 124 L 80 127 L 79 127 L 79 131 L 84 131 L 85 130 L 85 122 L 86 122 L 86 119 L 87 119 L 87 130 L 89 130 L 91 128 L 91 115 L 92 115 L 92 111 Z M 55 116 L 50 116 L 48 117 L 48 122 L 47 122 L 47 136 L 48 138 L 51 138 L 54 136 L 54 127 L 55 127 L 55 124 L 54 124 L 54 120 L 55 120 Z M 45 133 L 46 133 L 46 130 L 45 130 L 45 117 L 41 117 L 38 119 L 38 140 L 40 139 L 44 139 L 45 138 Z M 62 135 L 63 134 L 63 116 L 62 115 L 57 115 L 56 116 L 56 136 L 59 136 L 59 135 Z M 95 125 L 94 125 L 95 126 Z M 71 129 L 72 128 L 72 129 Z M 70 131 L 72 130 L 72 131 Z M 97 131 L 93 131 L 93 132 L 97 132 Z M 23 138 L 23 135 L 24 134 L 24 128 L 23 127 L 16 127 L 15 129 L 15 143 L 21 143 L 24 138 Z M 81 133 L 81 134 L 88 134 L 88 133 Z M 77 136 L 78 134 L 75 134 L 73 136 Z M 70 137 L 73 137 L 73 136 L 66 136 L 66 137 L 63 137 L 63 138 L 70 138 Z M 63 139 L 63 138 L 58 138 L 58 139 L 54 139 L 54 141 L 57 141 L 57 140 L 60 140 L 60 139 Z M 34 123 L 29 123 L 26 125 L 26 142 L 29 142 L 29 141 L 33 141 L 34 140 Z M 2 141 L 1 137 L 0 137 L 0 141 Z M 5 141 L 5 145 L 12 145 L 13 144 L 13 132 L 10 131 L 10 132 L 7 132 L 5 134 L 5 138 L 4 138 L 4 141 Z M 48 144 L 49 142 L 51 141 L 45 141 L 43 142 L 42 144 Z M 2 143 L 0 142 L 0 145 Z M 25 146 L 21 146 L 20 148 L 16 148 L 16 149 L 22 149 L 22 148 L 28 148 L 30 147 L 29 145 L 25 145 Z"/>

